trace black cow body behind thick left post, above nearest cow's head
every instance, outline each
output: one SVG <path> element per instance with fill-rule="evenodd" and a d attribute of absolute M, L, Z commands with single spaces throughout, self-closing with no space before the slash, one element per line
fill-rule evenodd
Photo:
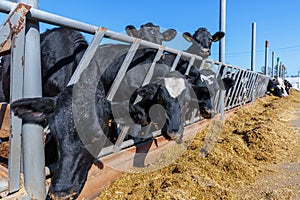
<path fill-rule="evenodd" d="M 68 84 L 88 44 L 83 35 L 68 28 L 54 28 L 40 35 L 43 96 L 58 95 Z M 2 58 L 0 101 L 9 102 L 10 55 Z"/>

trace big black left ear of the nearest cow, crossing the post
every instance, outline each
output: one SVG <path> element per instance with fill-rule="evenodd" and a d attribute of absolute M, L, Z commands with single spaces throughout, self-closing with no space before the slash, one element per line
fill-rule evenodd
<path fill-rule="evenodd" d="M 11 103 L 14 114 L 29 123 L 42 124 L 53 113 L 54 98 L 24 98 Z"/>

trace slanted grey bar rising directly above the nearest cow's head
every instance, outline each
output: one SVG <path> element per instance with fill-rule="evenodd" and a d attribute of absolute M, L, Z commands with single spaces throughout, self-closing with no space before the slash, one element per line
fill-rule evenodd
<path fill-rule="evenodd" d="M 106 30 L 107 29 L 100 27 L 96 31 L 93 40 L 91 41 L 89 47 L 85 51 L 82 59 L 80 60 L 80 62 L 78 64 L 78 67 L 76 68 L 74 74 L 72 75 L 72 78 L 69 81 L 68 85 L 73 85 L 78 82 L 81 73 L 84 71 L 84 69 L 87 68 L 87 66 L 91 62 L 92 58 L 94 57 L 94 55 L 98 49 L 98 46 L 99 46 L 100 42 L 102 41 L 102 38 L 104 37 Z"/>

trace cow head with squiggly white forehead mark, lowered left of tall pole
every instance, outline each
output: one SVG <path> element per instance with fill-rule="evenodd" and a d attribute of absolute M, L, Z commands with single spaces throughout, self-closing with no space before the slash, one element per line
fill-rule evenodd
<path fill-rule="evenodd" d="M 217 78 L 210 69 L 201 69 L 199 77 L 192 82 L 196 101 L 202 117 L 210 119 L 215 115 L 214 99 L 218 90 L 229 90 L 234 85 L 232 78 Z"/>

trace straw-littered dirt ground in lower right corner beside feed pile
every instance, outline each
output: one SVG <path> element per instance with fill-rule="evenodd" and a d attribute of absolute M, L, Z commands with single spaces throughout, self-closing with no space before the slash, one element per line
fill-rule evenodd
<path fill-rule="evenodd" d="M 300 98 L 299 98 L 300 101 Z M 300 104 L 285 119 L 300 135 Z M 265 173 L 256 177 L 255 182 L 240 188 L 239 196 L 245 199 L 297 199 L 300 200 L 300 141 L 295 149 L 293 162 L 286 161 L 265 166 Z"/>

